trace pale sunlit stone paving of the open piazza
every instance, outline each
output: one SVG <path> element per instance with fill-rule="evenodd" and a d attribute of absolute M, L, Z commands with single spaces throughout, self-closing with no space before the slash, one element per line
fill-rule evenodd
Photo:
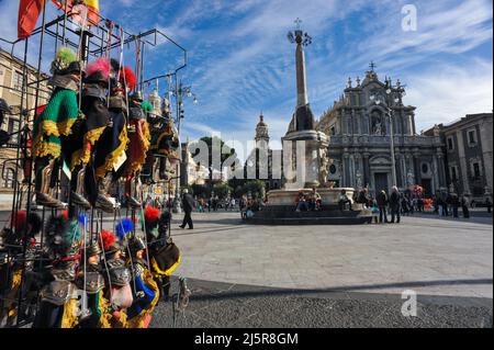
<path fill-rule="evenodd" d="M 404 217 L 400 225 L 250 226 L 238 213 L 194 214 L 172 235 L 176 274 L 280 289 L 493 296 L 492 218 Z"/>

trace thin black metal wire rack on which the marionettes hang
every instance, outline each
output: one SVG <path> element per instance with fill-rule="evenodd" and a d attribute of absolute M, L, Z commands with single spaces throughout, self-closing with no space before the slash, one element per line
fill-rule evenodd
<path fill-rule="evenodd" d="M 101 57 L 103 55 L 106 55 L 108 57 L 112 53 L 112 50 L 119 49 L 121 47 L 124 47 L 125 45 L 130 45 L 131 43 L 136 43 L 136 50 L 141 55 L 136 55 L 136 75 L 138 75 L 138 88 L 139 90 L 144 89 L 144 83 L 148 80 L 144 79 L 144 50 L 145 45 L 148 46 L 157 46 L 158 39 L 160 37 L 164 37 L 165 39 L 169 41 L 173 45 L 176 45 L 180 50 L 183 53 L 183 63 L 175 69 L 172 74 L 166 74 L 165 76 L 171 76 L 175 77 L 175 86 L 176 90 L 178 89 L 178 72 L 187 67 L 187 50 L 179 45 L 176 41 L 170 38 L 168 35 L 162 33 L 159 30 L 150 30 L 143 33 L 134 34 L 127 32 L 125 29 L 123 29 L 120 24 L 112 22 L 111 20 L 103 18 L 101 14 L 98 13 L 99 16 L 99 23 L 98 25 L 92 25 L 91 30 L 88 29 L 79 29 L 77 30 L 77 24 L 72 21 L 70 16 L 70 11 L 63 11 L 64 13 L 61 15 L 57 15 L 55 19 L 49 20 L 47 19 L 46 14 L 46 5 L 47 2 L 44 2 L 43 10 L 42 10 L 42 24 L 36 27 L 30 37 L 25 39 L 16 39 L 16 41 L 9 41 L 5 38 L 0 37 L 0 43 L 5 43 L 10 45 L 10 53 L 11 56 L 14 57 L 14 50 L 18 46 L 23 46 L 23 57 L 20 59 L 22 61 L 22 89 L 18 92 L 21 94 L 21 102 L 20 102 L 20 111 L 19 111 L 19 131 L 15 133 L 11 133 L 9 136 L 13 136 L 14 134 L 18 134 L 18 143 L 9 144 L 7 145 L 8 148 L 13 148 L 16 150 L 16 155 L 14 159 L 9 159 L 9 162 L 14 163 L 14 189 L 13 189 L 13 200 L 12 200 L 12 207 L 11 207 L 11 217 L 9 218 L 10 223 L 8 225 L 13 224 L 13 218 L 15 217 L 16 213 L 24 207 L 25 202 L 25 211 L 26 213 L 30 213 L 31 206 L 32 206 L 32 192 L 33 192 L 33 178 L 32 172 L 33 169 L 29 172 L 29 176 L 26 179 L 24 179 L 22 182 L 19 181 L 20 173 L 19 171 L 22 171 L 23 165 L 22 161 L 31 161 L 31 165 L 34 163 L 33 157 L 29 156 L 29 159 L 25 159 L 25 151 L 29 148 L 29 139 L 30 139 L 30 122 L 31 115 L 35 114 L 35 111 L 40 108 L 40 92 L 50 93 L 48 90 L 44 90 L 41 88 L 41 83 L 43 81 L 46 81 L 47 78 L 44 78 L 42 75 L 42 64 L 43 64 L 43 56 L 44 56 L 44 49 L 47 45 L 47 37 L 54 38 L 54 49 L 55 52 L 58 49 L 60 45 L 68 46 L 77 49 L 79 54 L 81 55 L 81 60 L 87 61 L 89 57 Z M 92 23 L 94 24 L 94 23 Z M 116 29 L 117 31 L 113 31 Z M 120 35 L 117 34 L 120 33 Z M 37 72 L 37 77 L 35 80 L 29 81 L 29 64 L 27 64 L 27 56 L 29 56 L 29 46 L 30 43 L 33 42 L 34 38 L 38 38 L 37 44 L 37 67 L 34 67 L 34 69 Z M 153 79 L 156 79 L 153 78 Z M 30 92 L 27 88 L 35 86 L 35 93 Z M 11 87 L 1 86 L 2 88 L 8 88 L 10 90 L 13 90 Z M 27 106 L 27 95 L 34 97 L 34 108 Z M 177 94 L 176 94 L 177 97 Z M 179 112 L 179 101 L 177 99 L 177 113 Z M 33 112 L 33 113 L 31 113 Z M 178 115 L 178 118 L 180 116 Z M 23 153 L 23 154 L 21 154 Z M 3 178 L 4 174 L 4 165 L 1 169 L 1 174 Z M 58 183 L 59 188 L 59 183 Z M 50 210 L 52 214 L 56 214 L 58 210 Z M 43 222 L 46 218 L 47 211 L 43 208 L 42 212 L 42 219 Z M 94 213 L 91 215 L 91 226 L 92 221 L 94 218 Z M 120 214 L 120 213 L 119 213 Z M 98 215 L 98 214 L 97 214 Z M 115 213 L 116 215 L 116 213 Z M 43 238 L 44 238 L 44 228 L 41 233 L 40 241 L 36 242 L 36 250 L 41 251 L 43 249 Z M 30 315 L 25 315 L 24 312 L 30 305 L 25 305 L 25 301 L 23 300 L 22 290 L 23 290 L 23 283 L 25 283 L 25 270 L 26 270 L 26 262 L 33 261 L 33 260 L 40 260 L 40 258 L 30 258 L 26 256 L 27 251 L 27 239 L 26 239 L 26 233 L 24 233 L 23 237 L 23 247 L 22 247 L 22 258 L 21 257 L 10 257 L 7 256 L 5 259 L 16 259 L 16 261 L 21 261 L 22 266 L 22 276 L 19 287 L 19 296 L 16 300 L 16 312 L 18 316 L 15 319 L 15 325 L 10 325 L 11 327 L 22 327 L 32 321 L 30 318 Z M 2 291 L 0 291 L 2 292 Z M 2 298 L 2 295 L 0 294 L 0 309 L 4 306 L 4 300 Z M 1 319 L 0 319 L 1 323 Z M 1 325 L 0 325 L 1 327 Z"/>

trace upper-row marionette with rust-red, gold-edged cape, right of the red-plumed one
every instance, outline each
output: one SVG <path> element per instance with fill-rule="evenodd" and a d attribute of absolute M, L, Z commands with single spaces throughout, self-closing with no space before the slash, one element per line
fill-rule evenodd
<path fill-rule="evenodd" d="M 125 196 L 127 204 L 132 207 L 141 207 L 138 199 L 139 172 L 146 161 L 146 154 L 150 145 L 149 127 L 146 120 L 146 112 L 149 103 L 143 101 L 141 91 L 135 92 L 130 101 L 130 145 L 127 149 L 127 160 L 125 165 Z M 134 180 L 134 184 L 132 183 Z"/>

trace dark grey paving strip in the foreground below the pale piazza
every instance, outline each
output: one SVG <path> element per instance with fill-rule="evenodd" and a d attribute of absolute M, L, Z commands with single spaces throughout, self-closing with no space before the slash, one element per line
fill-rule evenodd
<path fill-rule="evenodd" d="M 417 296 L 417 314 L 402 314 L 400 295 L 287 290 L 189 280 L 192 291 L 184 313 L 176 314 L 179 328 L 427 328 L 486 327 L 492 300 Z M 153 328 L 173 327 L 171 303 L 160 302 Z"/>

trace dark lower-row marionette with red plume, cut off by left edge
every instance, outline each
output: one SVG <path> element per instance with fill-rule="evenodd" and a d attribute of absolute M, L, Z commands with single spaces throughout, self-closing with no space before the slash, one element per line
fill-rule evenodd
<path fill-rule="evenodd" d="M 5 318 L 5 325 L 12 326 L 18 315 L 18 301 L 21 286 L 22 272 L 24 269 L 22 251 L 26 241 L 26 262 L 24 279 L 33 270 L 33 257 L 35 250 L 35 236 L 40 234 L 43 226 L 42 218 L 36 213 L 26 214 L 19 211 L 12 221 L 11 227 L 3 228 L 0 233 L 2 240 L 0 248 L 0 300 L 3 300 L 0 308 L 0 324 Z M 30 283 L 24 282 L 23 297 L 32 300 Z"/>

